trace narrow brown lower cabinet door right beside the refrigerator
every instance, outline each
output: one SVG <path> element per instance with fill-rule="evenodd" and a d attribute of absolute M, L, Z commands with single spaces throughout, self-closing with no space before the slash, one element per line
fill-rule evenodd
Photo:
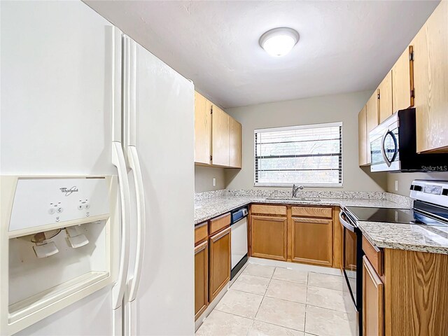
<path fill-rule="evenodd" d="M 209 242 L 195 247 L 195 320 L 209 305 Z"/>

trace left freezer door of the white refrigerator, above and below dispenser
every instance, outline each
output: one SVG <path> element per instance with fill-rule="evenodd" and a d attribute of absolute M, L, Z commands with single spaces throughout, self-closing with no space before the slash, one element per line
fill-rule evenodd
<path fill-rule="evenodd" d="M 116 175 L 111 24 L 81 1 L 2 1 L 0 15 L 0 173 Z M 111 335 L 111 307 L 107 286 L 18 335 Z"/>

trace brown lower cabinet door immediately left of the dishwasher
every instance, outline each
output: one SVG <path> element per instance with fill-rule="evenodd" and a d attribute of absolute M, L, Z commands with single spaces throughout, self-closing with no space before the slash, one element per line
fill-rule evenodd
<path fill-rule="evenodd" d="M 210 237 L 210 302 L 230 280 L 230 228 Z"/>

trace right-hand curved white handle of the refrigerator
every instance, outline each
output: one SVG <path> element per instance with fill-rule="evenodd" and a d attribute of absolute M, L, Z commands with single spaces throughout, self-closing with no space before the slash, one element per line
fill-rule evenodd
<path fill-rule="evenodd" d="M 127 151 L 130 168 L 134 176 L 135 193 L 137 200 L 137 248 L 134 273 L 130 279 L 128 300 L 132 302 L 137 297 L 139 289 L 141 267 L 143 265 L 144 249 L 145 249 L 145 227 L 146 227 L 146 211 L 145 211 L 145 192 L 143 187 L 143 178 L 141 176 L 141 167 L 139 155 L 135 146 L 129 146 Z"/>

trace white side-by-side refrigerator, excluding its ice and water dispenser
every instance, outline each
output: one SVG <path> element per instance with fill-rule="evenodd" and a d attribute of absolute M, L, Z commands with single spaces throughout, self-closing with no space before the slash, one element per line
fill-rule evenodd
<path fill-rule="evenodd" d="M 81 1 L 0 12 L 1 176 L 118 176 L 123 210 L 114 283 L 16 335 L 193 335 L 193 83 Z"/>

